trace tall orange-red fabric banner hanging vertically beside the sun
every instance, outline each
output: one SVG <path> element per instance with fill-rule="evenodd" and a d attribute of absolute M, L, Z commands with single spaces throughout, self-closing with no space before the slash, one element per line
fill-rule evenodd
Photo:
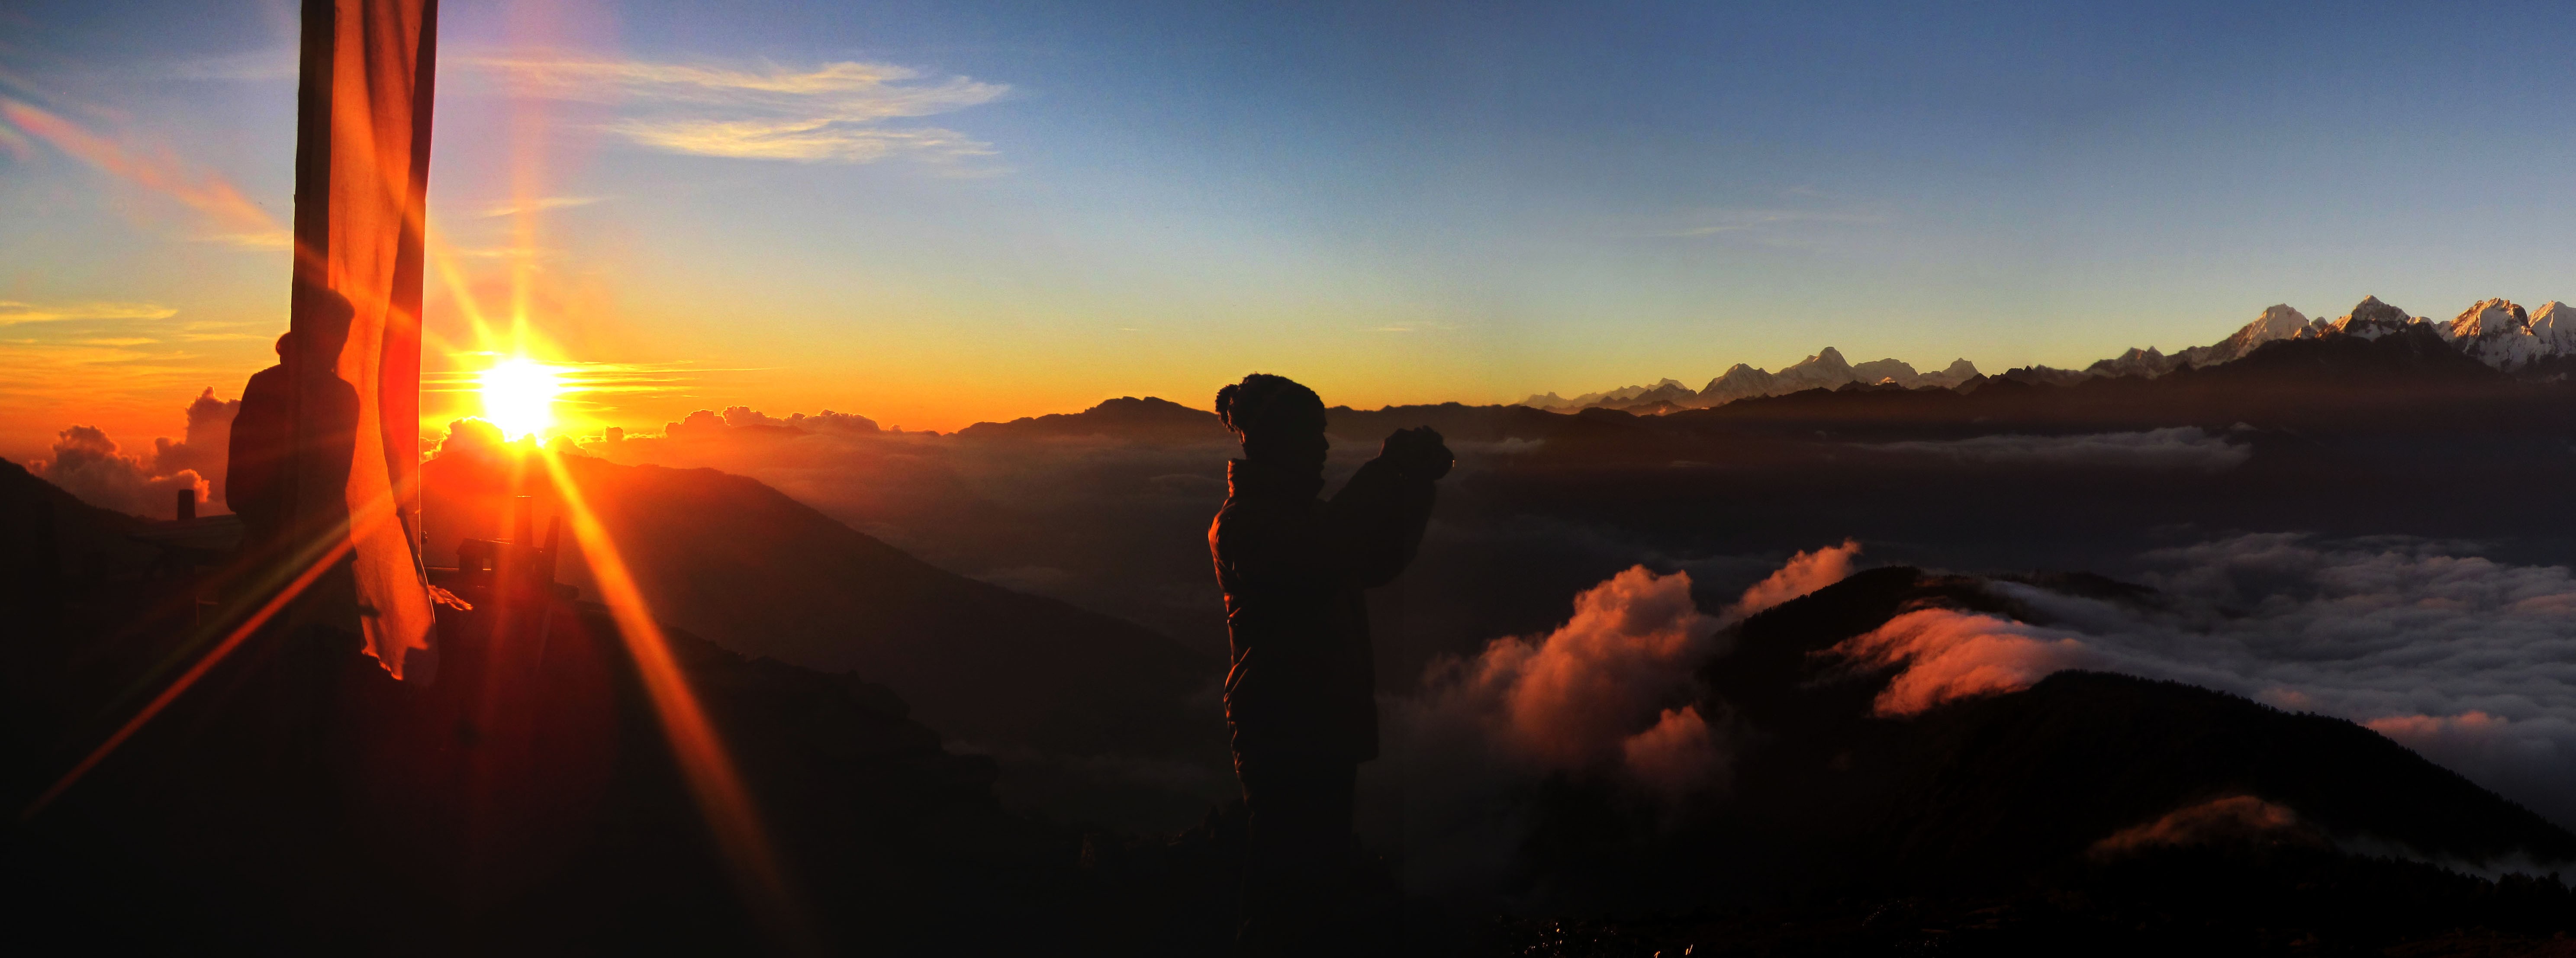
<path fill-rule="evenodd" d="M 296 93 L 296 528 L 350 546 L 314 615 L 435 670 L 420 564 L 420 278 L 438 0 L 304 0 Z M 350 621 L 355 618 L 355 621 Z"/>

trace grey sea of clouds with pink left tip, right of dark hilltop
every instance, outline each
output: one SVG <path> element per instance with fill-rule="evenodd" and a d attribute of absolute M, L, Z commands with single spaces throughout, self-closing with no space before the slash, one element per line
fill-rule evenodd
<path fill-rule="evenodd" d="M 2360 721 L 2576 827 L 2576 572 L 2421 538 L 2233 536 L 2143 556 L 2154 603 L 2020 582 L 2043 623 L 1914 610 L 1844 641 L 1888 716 L 2102 670 Z"/>

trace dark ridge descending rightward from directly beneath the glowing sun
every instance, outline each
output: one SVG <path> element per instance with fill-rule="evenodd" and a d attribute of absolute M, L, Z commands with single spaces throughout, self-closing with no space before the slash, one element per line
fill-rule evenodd
<path fill-rule="evenodd" d="M 930 567 L 744 476 L 587 456 L 562 466 L 657 618 L 742 654 L 884 682 L 961 747 L 999 755 L 1015 796 L 1177 827 L 1231 785 L 1224 662 L 1211 654 Z M 541 466 L 515 451 L 469 448 L 422 474 L 433 564 L 459 538 L 510 536 L 510 494 L 556 512 Z M 595 592 L 598 559 L 569 554 L 567 582 Z"/>

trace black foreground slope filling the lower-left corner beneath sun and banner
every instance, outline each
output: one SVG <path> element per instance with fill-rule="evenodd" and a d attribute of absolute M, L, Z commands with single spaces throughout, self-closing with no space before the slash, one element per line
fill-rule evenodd
<path fill-rule="evenodd" d="M 0 806 L 15 819 L 206 649 L 193 621 L 240 613 L 240 587 L 108 554 L 116 515 L 13 466 L 0 507 L 31 518 L 0 536 L 10 572 L 49 585 L 8 595 L 0 641 Z M 994 762 L 943 749 L 884 685 L 670 631 L 778 860 L 786 896 L 747 899 L 714 837 L 742 819 L 703 811 L 634 639 L 587 603 L 556 603 L 544 634 L 495 634 L 502 605 L 456 585 L 477 610 L 440 610 L 433 682 L 389 680 L 353 636 L 270 628 L 13 822 L 0 940 L 353 955 L 1131 955 L 1224 940 L 1216 832 L 1151 842 L 1159 873 L 1105 881 L 1084 847 L 1108 840 L 1007 811 Z M 198 613 L 206 595 L 227 603 Z"/>

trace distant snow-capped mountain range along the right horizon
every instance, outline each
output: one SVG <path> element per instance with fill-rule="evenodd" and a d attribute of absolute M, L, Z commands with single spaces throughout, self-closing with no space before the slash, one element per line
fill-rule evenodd
<path fill-rule="evenodd" d="M 2254 322 L 2246 322 L 2226 340 L 2210 345 L 2195 345 L 2179 353 L 2161 353 L 2156 348 L 2130 348 L 2115 358 L 2094 361 L 2087 368 L 2053 368 L 2053 366 L 2022 366 L 1999 373 L 1996 379 L 2014 379 L 2027 384 L 2079 384 L 2102 376 L 2164 376 L 2184 368 L 2205 368 L 2233 363 L 2257 345 L 2272 340 L 2311 340 L 2311 337 L 2360 337 L 2378 340 L 2383 335 L 2403 332 L 2406 327 L 2424 327 L 2442 343 L 2450 343 L 2468 358 L 2486 363 L 2499 371 L 2527 371 L 2545 361 L 2561 355 L 2576 355 L 2576 306 L 2548 301 L 2540 309 L 2522 309 L 2506 299 L 2481 299 L 2463 309 L 2450 322 L 2437 322 L 2429 317 L 2409 317 L 2406 309 L 2383 304 L 2378 296 L 2362 296 L 2339 319 L 2308 319 L 2287 304 L 2275 304 L 2264 309 Z M 1664 379 L 1654 386 L 1623 386 L 1607 391 L 1587 391 L 1582 397 L 1566 399 L 1553 391 L 1522 399 L 1520 404 L 1553 412 L 1574 409 L 1628 409 L 1628 412 L 1672 412 L 1672 409 L 1708 409 L 1736 399 L 1752 397 L 1783 397 L 1806 389 L 1842 389 L 1847 384 L 1862 386 L 1904 386 L 1904 389 L 1958 389 L 1976 379 L 1984 379 L 1976 363 L 1958 358 L 1950 366 L 1917 373 L 1914 366 L 1893 358 L 1850 363 L 1842 350 L 1832 345 L 1808 355 L 1777 373 L 1736 363 L 1728 371 L 1710 379 L 1708 386 L 1690 389 L 1677 379 Z"/>

